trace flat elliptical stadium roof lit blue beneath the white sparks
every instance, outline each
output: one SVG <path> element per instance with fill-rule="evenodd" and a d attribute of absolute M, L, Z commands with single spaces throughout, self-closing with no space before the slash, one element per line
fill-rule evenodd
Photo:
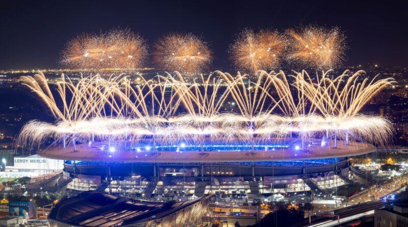
<path fill-rule="evenodd" d="M 93 144 L 104 144 L 94 142 Z M 295 147 L 299 147 L 297 150 Z M 153 163 L 190 163 L 190 162 L 263 162 L 282 160 L 310 160 L 327 159 L 364 155 L 374 152 L 375 146 L 364 142 L 350 141 L 346 144 L 343 140 L 337 141 L 334 148 L 334 140 L 328 140 L 325 146 L 317 144 L 301 150 L 301 141 L 294 141 L 291 148 L 279 148 L 276 150 L 258 150 L 250 154 L 250 150 L 233 150 L 228 152 L 207 151 L 202 155 L 199 151 L 186 152 L 160 152 L 160 155 L 150 155 L 151 152 L 136 152 L 129 149 L 117 149 L 114 153 L 103 152 L 101 149 L 87 145 L 77 146 L 73 152 L 72 146 L 52 147 L 41 150 L 39 155 L 49 159 L 77 160 L 77 161 L 101 161 L 101 162 L 153 162 Z"/>

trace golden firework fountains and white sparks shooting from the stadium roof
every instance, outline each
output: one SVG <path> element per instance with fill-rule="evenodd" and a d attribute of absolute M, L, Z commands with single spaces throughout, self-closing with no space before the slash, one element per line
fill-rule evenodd
<path fill-rule="evenodd" d="M 258 80 L 251 82 L 247 75 L 215 71 L 207 79 L 186 83 L 176 72 L 174 77 L 158 75 L 156 81 L 142 79 L 136 86 L 122 74 L 108 79 L 96 74 L 77 83 L 62 75 L 53 92 L 40 72 L 24 77 L 25 85 L 57 122 L 28 122 L 18 142 L 35 145 L 54 137 L 57 145 L 75 146 L 78 141 L 148 140 L 154 150 L 156 144 L 181 142 L 203 150 L 203 141 L 211 140 L 247 143 L 252 152 L 254 144 L 288 137 L 302 144 L 316 138 L 387 144 L 393 135 L 391 122 L 359 111 L 395 81 L 362 79 L 364 71 L 345 71 L 336 78 L 328 73 L 313 80 L 305 71 L 292 76 L 259 71 Z"/>

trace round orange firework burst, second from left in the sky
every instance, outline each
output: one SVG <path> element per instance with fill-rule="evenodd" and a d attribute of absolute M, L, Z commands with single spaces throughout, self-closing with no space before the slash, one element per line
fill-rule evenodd
<path fill-rule="evenodd" d="M 212 61 L 207 42 L 190 33 L 163 36 L 154 47 L 154 63 L 161 70 L 200 73 Z"/>

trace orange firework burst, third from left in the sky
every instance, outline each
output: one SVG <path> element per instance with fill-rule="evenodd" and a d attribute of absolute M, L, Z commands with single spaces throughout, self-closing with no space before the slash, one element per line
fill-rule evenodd
<path fill-rule="evenodd" d="M 286 47 L 285 38 L 272 30 L 244 30 L 231 45 L 231 60 L 247 72 L 276 69 L 281 64 Z"/>

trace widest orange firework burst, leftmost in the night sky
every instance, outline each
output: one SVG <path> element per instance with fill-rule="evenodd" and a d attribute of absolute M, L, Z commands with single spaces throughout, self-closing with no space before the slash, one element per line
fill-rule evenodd
<path fill-rule="evenodd" d="M 75 69 L 136 69 L 146 57 L 143 38 L 129 29 L 113 29 L 75 37 L 66 44 L 60 62 Z"/>

